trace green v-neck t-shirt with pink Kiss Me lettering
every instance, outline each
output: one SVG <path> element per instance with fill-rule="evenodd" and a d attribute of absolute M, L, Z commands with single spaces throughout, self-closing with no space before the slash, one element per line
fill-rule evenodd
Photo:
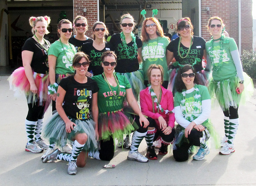
<path fill-rule="evenodd" d="M 120 94 L 117 98 L 113 96 L 113 93 L 110 90 L 107 82 L 104 80 L 104 77 L 102 74 L 92 77 L 92 79 L 94 79 L 99 86 L 99 92 L 98 92 L 99 113 L 116 111 L 123 108 L 123 102 L 126 96 L 126 89 L 131 88 L 131 85 L 125 76 L 122 76 L 122 75 L 116 75 L 116 76 L 120 84 Z M 118 86 L 116 87 L 111 86 L 111 87 L 114 92 L 114 95 L 116 95 L 116 93 L 118 92 Z"/>

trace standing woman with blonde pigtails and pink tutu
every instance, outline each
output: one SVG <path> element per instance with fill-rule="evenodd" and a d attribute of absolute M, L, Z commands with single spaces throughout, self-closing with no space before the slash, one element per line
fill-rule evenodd
<path fill-rule="evenodd" d="M 27 144 L 26 151 L 42 152 L 49 147 L 41 138 L 44 112 L 49 106 L 46 75 L 48 74 L 48 49 L 50 42 L 44 39 L 48 34 L 50 17 L 30 17 L 33 37 L 26 40 L 22 47 L 23 66 L 16 69 L 9 77 L 10 87 L 25 92 L 28 102 L 28 115 L 25 120 Z M 46 101 L 47 98 L 49 101 Z"/>

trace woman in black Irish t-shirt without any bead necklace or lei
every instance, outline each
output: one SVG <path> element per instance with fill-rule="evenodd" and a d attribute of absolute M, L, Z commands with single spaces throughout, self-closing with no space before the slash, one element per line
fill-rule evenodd
<path fill-rule="evenodd" d="M 82 51 L 89 55 L 91 65 L 86 73 L 87 77 L 97 76 L 103 73 L 101 66 L 101 55 L 106 50 L 112 50 L 109 42 L 105 41 L 105 35 L 108 35 L 106 25 L 100 21 L 94 23 L 92 27 L 94 41 L 83 44 Z"/>

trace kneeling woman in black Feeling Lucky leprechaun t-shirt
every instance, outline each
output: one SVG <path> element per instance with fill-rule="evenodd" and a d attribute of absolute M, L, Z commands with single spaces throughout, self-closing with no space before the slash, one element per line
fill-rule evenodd
<path fill-rule="evenodd" d="M 57 92 L 56 112 L 44 128 L 44 135 L 50 140 L 52 153 L 43 163 L 56 159 L 68 161 L 68 173 L 76 174 L 76 167 L 86 165 L 88 151 L 97 147 L 98 134 L 98 86 L 86 77 L 89 58 L 78 52 L 73 58 L 74 75 L 61 79 Z M 63 105 L 62 105 L 63 103 Z M 90 111 L 93 119 L 91 119 Z M 66 144 L 66 139 L 74 141 L 72 154 L 54 150 L 55 144 Z"/>

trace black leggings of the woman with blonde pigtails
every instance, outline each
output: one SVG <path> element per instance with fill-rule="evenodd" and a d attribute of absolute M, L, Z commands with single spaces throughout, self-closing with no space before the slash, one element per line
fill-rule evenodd
<path fill-rule="evenodd" d="M 37 121 L 38 119 L 44 118 L 44 109 L 45 109 L 45 102 L 43 102 L 42 106 L 39 106 L 39 102 L 29 103 L 28 104 L 28 121 Z"/>

